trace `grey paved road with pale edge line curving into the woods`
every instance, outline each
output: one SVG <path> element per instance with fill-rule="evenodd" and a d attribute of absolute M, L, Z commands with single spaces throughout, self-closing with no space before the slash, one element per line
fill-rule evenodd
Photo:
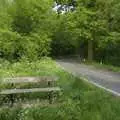
<path fill-rule="evenodd" d="M 92 84 L 120 96 L 120 73 L 96 69 L 72 59 L 59 59 L 56 62 L 64 70 L 76 76 L 84 77 Z"/>

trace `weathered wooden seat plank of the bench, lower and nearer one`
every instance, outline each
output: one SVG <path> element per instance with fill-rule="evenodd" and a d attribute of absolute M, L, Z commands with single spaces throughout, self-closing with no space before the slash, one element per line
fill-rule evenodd
<path fill-rule="evenodd" d="M 7 89 L 0 92 L 2 95 L 9 94 L 19 94 L 19 93 L 32 93 L 32 92 L 52 92 L 52 91 L 60 91 L 59 87 L 51 87 L 51 88 L 32 88 L 32 89 Z"/>

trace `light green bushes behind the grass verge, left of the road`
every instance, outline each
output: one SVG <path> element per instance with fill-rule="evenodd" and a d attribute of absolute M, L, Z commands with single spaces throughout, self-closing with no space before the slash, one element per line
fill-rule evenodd
<path fill-rule="evenodd" d="M 51 39 L 46 34 L 21 36 L 9 30 L 0 30 L 0 57 L 7 60 L 29 60 L 47 56 L 50 53 Z"/>

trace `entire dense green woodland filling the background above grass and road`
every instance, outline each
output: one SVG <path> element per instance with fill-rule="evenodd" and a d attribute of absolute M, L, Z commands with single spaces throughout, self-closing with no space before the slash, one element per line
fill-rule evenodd
<path fill-rule="evenodd" d="M 120 66 L 120 1 L 0 0 L 0 58 L 18 61 L 79 54 Z"/>

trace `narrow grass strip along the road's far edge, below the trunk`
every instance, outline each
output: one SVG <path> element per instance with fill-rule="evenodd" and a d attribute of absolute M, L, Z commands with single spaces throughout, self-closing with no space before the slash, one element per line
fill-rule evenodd
<path fill-rule="evenodd" d="M 103 63 L 98 63 L 98 62 L 84 62 L 87 65 L 92 65 L 97 69 L 103 69 L 103 70 L 108 70 L 108 71 L 113 71 L 113 72 L 120 72 L 120 67 L 109 65 L 109 64 L 103 64 Z"/>

